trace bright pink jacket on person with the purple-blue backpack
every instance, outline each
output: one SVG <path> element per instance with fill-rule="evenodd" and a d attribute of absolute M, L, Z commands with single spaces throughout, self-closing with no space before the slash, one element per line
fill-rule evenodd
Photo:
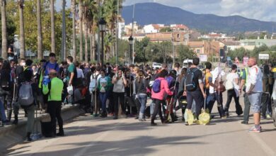
<path fill-rule="evenodd" d="M 173 95 L 173 92 L 168 88 L 167 80 L 163 77 L 159 77 L 157 79 L 161 80 L 161 90 L 159 91 L 159 93 L 154 93 L 153 89 L 151 89 L 151 98 L 163 100 L 166 94 Z"/>

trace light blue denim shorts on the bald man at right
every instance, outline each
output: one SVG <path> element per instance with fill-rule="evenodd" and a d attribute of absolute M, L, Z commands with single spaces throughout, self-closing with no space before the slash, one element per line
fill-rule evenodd
<path fill-rule="evenodd" d="M 248 99 L 251 104 L 251 111 L 253 113 L 260 113 L 262 93 L 252 93 L 248 94 Z"/>

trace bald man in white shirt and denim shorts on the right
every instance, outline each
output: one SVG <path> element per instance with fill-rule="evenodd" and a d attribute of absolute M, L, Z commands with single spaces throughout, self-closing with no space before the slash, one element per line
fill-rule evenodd
<path fill-rule="evenodd" d="M 254 124 L 249 132 L 260 133 L 260 104 L 261 96 L 263 94 L 263 74 L 257 65 L 255 57 L 251 57 L 248 60 L 249 71 L 248 71 L 248 81 L 246 82 L 246 94 L 248 94 L 248 99 L 251 104 L 251 111 L 253 111 Z"/>

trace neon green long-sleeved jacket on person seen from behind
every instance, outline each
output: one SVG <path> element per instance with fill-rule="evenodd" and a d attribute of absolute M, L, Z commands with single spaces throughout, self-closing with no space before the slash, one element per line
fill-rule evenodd
<path fill-rule="evenodd" d="M 62 89 L 63 89 L 63 82 L 61 79 L 54 77 L 51 79 L 51 89 L 50 94 L 48 96 L 48 101 L 62 101 Z M 49 88 L 48 84 L 43 84 L 42 87 L 43 94 L 48 94 Z"/>

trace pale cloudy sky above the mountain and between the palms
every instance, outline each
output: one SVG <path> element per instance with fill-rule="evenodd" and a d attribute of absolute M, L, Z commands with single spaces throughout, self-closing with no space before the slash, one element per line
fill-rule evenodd
<path fill-rule="evenodd" d="M 67 0 L 67 7 L 70 7 Z M 123 5 L 156 2 L 166 6 L 176 6 L 192 13 L 212 13 L 218 16 L 239 15 L 260 21 L 276 21 L 276 0 L 125 0 Z M 62 9 L 62 0 L 55 4 Z"/>

